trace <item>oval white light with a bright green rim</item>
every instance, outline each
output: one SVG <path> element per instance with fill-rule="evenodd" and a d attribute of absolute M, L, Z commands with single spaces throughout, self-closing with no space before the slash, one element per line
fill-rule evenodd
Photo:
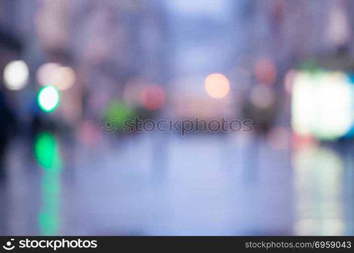
<path fill-rule="evenodd" d="M 54 86 L 45 86 L 38 92 L 38 105 L 46 112 L 53 111 L 59 104 L 60 96 Z"/>

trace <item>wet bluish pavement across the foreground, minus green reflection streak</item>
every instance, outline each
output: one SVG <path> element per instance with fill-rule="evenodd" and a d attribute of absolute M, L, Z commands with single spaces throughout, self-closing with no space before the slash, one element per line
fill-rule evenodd
<path fill-rule="evenodd" d="M 59 140 L 52 234 L 352 234 L 352 182 L 343 173 L 352 179 L 353 168 L 331 149 L 296 158 L 242 133 L 105 137 L 94 147 Z M 43 234 L 45 175 L 21 141 L 8 160 L 0 231 Z"/>

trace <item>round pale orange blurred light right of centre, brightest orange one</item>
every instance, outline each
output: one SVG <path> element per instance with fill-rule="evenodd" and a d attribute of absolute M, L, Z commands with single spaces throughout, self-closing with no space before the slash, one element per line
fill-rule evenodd
<path fill-rule="evenodd" d="M 205 90 L 213 98 L 223 98 L 230 90 L 230 83 L 222 74 L 210 74 L 205 79 Z"/>

